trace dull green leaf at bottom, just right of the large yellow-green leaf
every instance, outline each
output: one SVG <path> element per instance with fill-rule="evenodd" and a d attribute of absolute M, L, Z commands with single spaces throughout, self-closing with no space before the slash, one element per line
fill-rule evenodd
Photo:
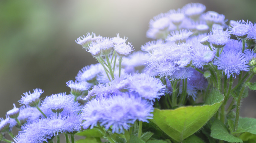
<path fill-rule="evenodd" d="M 220 120 L 215 120 L 211 127 L 211 137 L 227 142 L 243 142 L 237 136 L 228 133 L 226 126 Z"/>

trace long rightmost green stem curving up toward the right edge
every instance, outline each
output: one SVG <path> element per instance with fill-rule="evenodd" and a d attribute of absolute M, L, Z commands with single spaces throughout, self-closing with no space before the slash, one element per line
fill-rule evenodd
<path fill-rule="evenodd" d="M 251 78 L 254 76 L 254 74 L 252 73 L 247 80 L 245 81 L 245 83 L 249 82 L 251 80 Z M 245 85 L 242 86 L 240 93 L 238 95 L 238 99 L 237 99 L 237 105 L 236 105 L 236 118 L 235 118 L 235 126 L 234 126 L 234 131 L 237 130 L 238 127 L 238 121 L 239 121 L 239 114 L 240 114 L 240 105 L 241 105 L 241 99 L 242 99 L 242 95 L 243 92 L 245 90 Z"/>

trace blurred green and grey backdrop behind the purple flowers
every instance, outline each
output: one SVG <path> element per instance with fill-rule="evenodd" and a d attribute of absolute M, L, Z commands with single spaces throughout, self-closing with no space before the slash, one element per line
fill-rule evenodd
<path fill-rule="evenodd" d="M 87 32 L 129 37 L 135 50 L 148 22 L 161 12 L 199 2 L 228 20 L 256 22 L 255 0 L 0 0 L 0 117 L 21 95 L 35 88 L 42 97 L 69 92 L 66 82 L 96 60 L 75 39 Z M 256 118 L 255 92 L 242 104 L 242 116 Z"/>

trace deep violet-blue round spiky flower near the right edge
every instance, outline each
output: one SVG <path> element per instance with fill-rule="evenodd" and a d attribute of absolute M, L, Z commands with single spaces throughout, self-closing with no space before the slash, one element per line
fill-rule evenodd
<path fill-rule="evenodd" d="M 227 78 L 231 75 L 234 77 L 234 74 L 235 76 L 240 74 L 240 71 L 249 71 L 245 55 L 235 50 L 223 51 L 213 64 L 218 67 L 218 70 L 223 70 L 222 73 L 225 72 Z"/>

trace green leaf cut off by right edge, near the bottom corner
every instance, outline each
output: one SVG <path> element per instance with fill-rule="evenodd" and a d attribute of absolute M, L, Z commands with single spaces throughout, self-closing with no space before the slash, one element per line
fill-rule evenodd
<path fill-rule="evenodd" d="M 237 130 L 233 133 L 249 132 L 256 135 L 256 119 L 254 118 L 239 118 Z"/>

